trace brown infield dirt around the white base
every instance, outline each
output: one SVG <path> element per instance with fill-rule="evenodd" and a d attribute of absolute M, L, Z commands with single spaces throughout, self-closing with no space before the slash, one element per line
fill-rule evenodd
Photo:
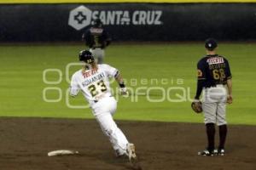
<path fill-rule="evenodd" d="M 197 156 L 207 142 L 203 123 L 117 123 L 136 144 L 143 170 L 256 169 L 256 126 L 229 126 L 226 155 L 210 157 Z M 0 141 L 1 170 L 133 169 L 114 156 L 95 120 L 2 117 Z M 49 157 L 51 150 L 80 154 Z"/>

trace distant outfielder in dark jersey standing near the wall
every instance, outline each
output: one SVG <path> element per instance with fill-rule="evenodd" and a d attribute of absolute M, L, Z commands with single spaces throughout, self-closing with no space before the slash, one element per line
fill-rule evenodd
<path fill-rule="evenodd" d="M 108 31 L 102 27 L 102 20 L 94 20 L 94 25 L 86 30 L 82 36 L 85 44 L 90 48 L 90 52 L 96 60 L 96 63 L 102 64 L 105 56 L 104 49 L 111 42 Z"/>

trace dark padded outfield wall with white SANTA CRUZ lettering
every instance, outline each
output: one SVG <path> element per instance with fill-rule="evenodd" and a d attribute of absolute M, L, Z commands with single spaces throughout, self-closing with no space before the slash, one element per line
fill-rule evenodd
<path fill-rule="evenodd" d="M 12 3 L 0 41 L 80 41 L 97 17 L 115 41 L 256 40 L 256 3 Z"/>

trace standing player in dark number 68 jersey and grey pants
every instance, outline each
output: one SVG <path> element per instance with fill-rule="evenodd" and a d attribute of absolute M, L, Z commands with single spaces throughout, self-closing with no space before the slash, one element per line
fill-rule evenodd
<path fill-rule="evenodd" d="M 227 59 L 216 54 L 217 46 L 216 40 L 207 39 L 205 43 L 207 55 L 197 64 L 198 81 L 194 102 L 200 104 L 199 98 L 203 91 L 202 110 L 208 140 L 207 149 L 198 153 L 202 156 L 224 156 L 227 135 L 226 103 L 231 104 L 233 100 L 230 65 Z M 219 132 L 218 150 L 214 149 L 215 124 Z"/>

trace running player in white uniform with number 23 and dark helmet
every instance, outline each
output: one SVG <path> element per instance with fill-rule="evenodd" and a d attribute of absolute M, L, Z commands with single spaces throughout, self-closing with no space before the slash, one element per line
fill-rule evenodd
<path fill-rule="evenodd" d="M 113 121 L 117 101 L 111 94 L 108 77 L 114 77 L 119 83 L 120 94 L 128 95 L 125 83 L 119 71 L 110 65 L 97 65 L 88 50 L 79 53 L 79 60 L 84 62 L 83 69 L 76 71 L 71 80 L 70 94 L 76 96 L 81 90 L 84 98 L 89 102 L 96 121 L 108 136 L 117 156 L 128 156 L 136 161 L 135 146 L 128 142 L 125 134 Z"/>

